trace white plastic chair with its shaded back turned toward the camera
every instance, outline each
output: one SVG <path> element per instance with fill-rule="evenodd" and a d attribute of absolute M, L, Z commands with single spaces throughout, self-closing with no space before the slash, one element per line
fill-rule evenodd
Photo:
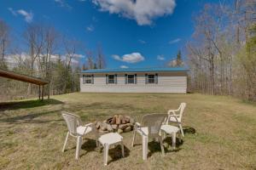
<path fill-rule="evenodd" d="M 133 147 L 134 145 L 136 133 L 139 133 L 143 137 L 143 160 L 147 160 L 148 156 L 148 138 L 158 139 L 162 155 L 165 156 L 163 141 L 160 136 L 160 127 L 166 119 L 166 116 L 166 114 L 148 114 L 143 116 L 141 123 L 135 123 L 131 146 Z"/>

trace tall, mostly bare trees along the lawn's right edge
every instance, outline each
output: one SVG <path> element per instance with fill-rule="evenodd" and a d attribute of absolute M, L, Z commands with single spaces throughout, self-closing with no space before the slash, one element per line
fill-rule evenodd
<path fill-rule="evenodd" d="M 256 1 L 221 2 L 206 4 L 195 15 L 195 32 L 186 46 L 190 88 L 255 101 Z"/>

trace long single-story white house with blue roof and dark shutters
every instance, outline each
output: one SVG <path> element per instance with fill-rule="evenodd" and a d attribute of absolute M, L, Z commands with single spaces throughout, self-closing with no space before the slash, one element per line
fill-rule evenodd
<path fill-rule="evenodd" d="M 82 71 L 81 92 L 178 93 L 187 92 L 187 69 L 127 68 Z"/>

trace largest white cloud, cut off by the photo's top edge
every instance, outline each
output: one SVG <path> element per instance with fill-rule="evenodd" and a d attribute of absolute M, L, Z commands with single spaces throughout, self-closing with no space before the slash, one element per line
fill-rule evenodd
<path fill-rule="evenodd" d="M 153 20 L 173 13 L 175 0 L 92 0 L 101 11 L 136 20 L 139 26 L 151 25 Z"/>

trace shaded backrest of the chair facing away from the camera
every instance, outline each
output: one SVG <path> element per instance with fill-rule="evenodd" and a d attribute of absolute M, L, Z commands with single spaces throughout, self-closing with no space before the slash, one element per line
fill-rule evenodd
<path fill-rule="evenodd" d="M 166 114 L 148 114 L 143 116 L 142 126 L 148 127 L 148 137 L 158 137 L 160 134 L 160 127 L 166 118 Z"/>

